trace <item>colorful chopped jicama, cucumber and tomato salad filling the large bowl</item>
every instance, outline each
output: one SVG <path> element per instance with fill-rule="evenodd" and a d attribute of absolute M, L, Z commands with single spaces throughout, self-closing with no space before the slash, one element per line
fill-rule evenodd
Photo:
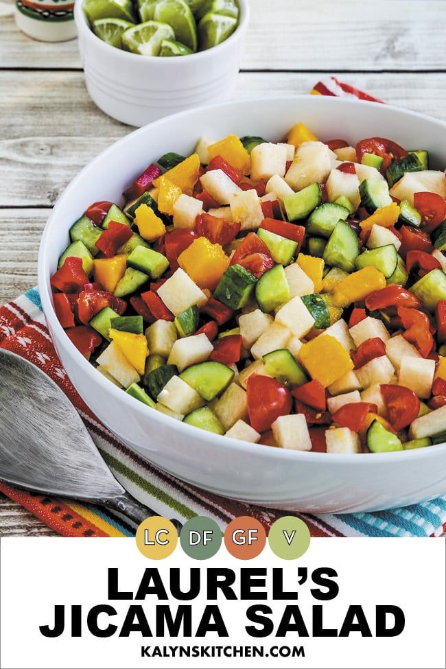
<path fill-rule="evenodd" d="M 300 451 L 446 441 L 446 177 L 373 137 L 200 139 L 70 228 L 71 342 L 140 401 Z"/>

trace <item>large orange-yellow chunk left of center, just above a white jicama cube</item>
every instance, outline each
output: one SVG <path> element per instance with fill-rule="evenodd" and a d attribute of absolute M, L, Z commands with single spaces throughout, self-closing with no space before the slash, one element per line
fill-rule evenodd
<path fill-rule="evenodd" d="M 229 266 L 229 258 L 220 244 L 198 237 L 178 256 L 178 265 L 200 288 L 213 290 Z"/>

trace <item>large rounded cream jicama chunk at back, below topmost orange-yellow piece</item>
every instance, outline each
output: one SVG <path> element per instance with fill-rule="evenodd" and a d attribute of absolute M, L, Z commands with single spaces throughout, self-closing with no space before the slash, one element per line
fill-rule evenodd
<path fill-rule="evenodd" d="M 323 183 L 336 160 L 335 154 L 319 141 L 303 142 L 285 174 L 286 183 L 294 191 L 301 191 L 312 183 Z"/>

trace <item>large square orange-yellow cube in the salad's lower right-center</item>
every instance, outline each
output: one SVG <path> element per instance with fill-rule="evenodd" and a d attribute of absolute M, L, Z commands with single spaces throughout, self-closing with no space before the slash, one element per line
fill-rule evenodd
<path fill-rule="evenodd" d="M 325 388 L 351 371 L 354 366 L 342 344 L 325 334 L 303 344 L 297 356 L 312 379 L 318 379 Z"/>

